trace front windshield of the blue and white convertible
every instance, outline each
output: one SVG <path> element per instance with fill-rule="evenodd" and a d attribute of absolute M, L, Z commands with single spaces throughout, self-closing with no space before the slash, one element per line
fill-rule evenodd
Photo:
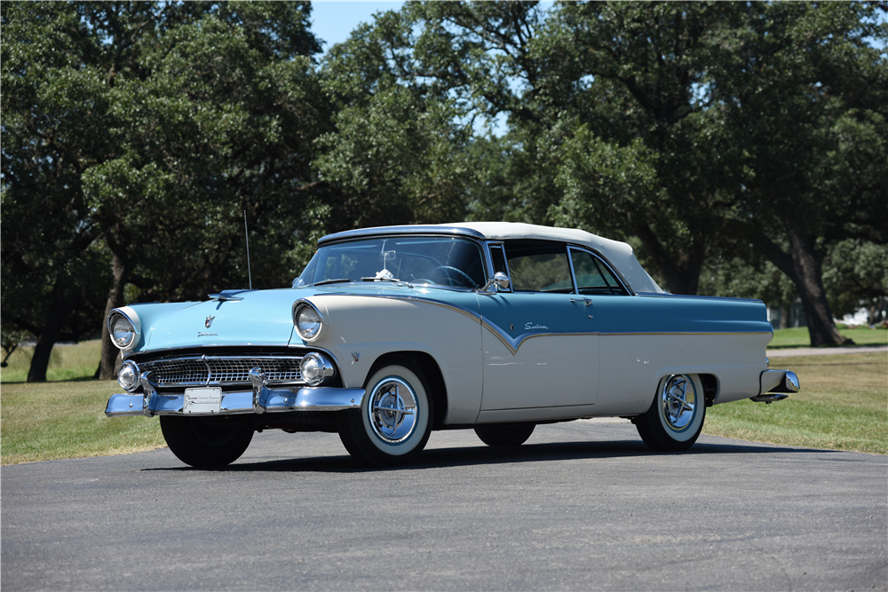
<path fill-rule="evenodd" d="M 464 239 L 411 236 L 348 241 L 318 249 L 293 286 L 336 281 L 406 281 L 475 289 L 484 285 L 484 265 L 478 244 Z"/>

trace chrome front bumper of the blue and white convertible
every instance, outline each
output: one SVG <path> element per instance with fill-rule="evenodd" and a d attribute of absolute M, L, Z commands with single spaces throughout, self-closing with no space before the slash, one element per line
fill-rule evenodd
<path fill-rule="evenodd" d="M 150 383 L 148 373 L 140 380 L 144 394 L 111 395 L 105 414 L 108 417 L 123 415 L 192 415 L 183 412 L 185 394 L 158 393 Z M 304 387 L 298 391 L 269 389 L 265 375 L 250 371 L 252 391 L 222 393 L 219 414 L 266 414 L 288 411 L 339 411 L 361 407 L 363 389 L 337 387 Z"/>

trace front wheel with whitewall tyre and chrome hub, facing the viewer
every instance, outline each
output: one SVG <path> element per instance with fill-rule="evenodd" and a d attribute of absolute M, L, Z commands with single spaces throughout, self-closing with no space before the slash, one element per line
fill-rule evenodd
<path fill-rule="evenodd" d="M 380 368 L 366 385 L 361 409 L 337 414 L 339 439 L 357 461 L 395 467 L 416 459 L 432 434 L 432 399 L 419 368 Z"/>

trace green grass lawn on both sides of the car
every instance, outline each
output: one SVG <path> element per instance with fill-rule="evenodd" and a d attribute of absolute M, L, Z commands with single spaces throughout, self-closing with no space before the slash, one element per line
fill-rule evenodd
<path fill-rule="evenodd" d="M 807 330 L 801 330 L 805 336 L 800 345 L 806 346 Z M 868 343 L 885 343 L 888 335 L 884 330 L 843 330 L 857 341 L 852 332 L 878 337 Z M 792 333 L 777 332 L 775 339 L 777 335 L 783 342 L 797 339 Z M 98 341 L 53 348 L 47 383 L 24 382 L 32 354 L 33 348 L 20 348 L 9 367 L 0 370 L 0 463 L 127 454 L 164 446 L 156 418 L 105 416 L 108 397 L 120 387 L 115 381 L 91 378 L 99 363 Z M 775 358 L 771 367 L 793 370 L 802 390 L 771 405 L 738 401 L 710 407 L 704 431 L 778 445 L 888 454 L 888 355 Z"/>

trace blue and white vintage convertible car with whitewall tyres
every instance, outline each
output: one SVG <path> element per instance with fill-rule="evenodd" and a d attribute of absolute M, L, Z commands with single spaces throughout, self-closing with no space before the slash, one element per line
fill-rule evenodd
<path fill-rule="evenodd" d="M 173 454 L 234 462 L 253 433 L 337 431 L 392 466 L 432 430 L 518 446 L 538 423 L 630 418 L 654 450 L 686 450 L 706 407 L 771 402 L 757 300 L 672 296 L 630 246 L 509 223 L 366 228 L 324 237 L 292 288 L 108 315 L 123 351 L 106 414 L 160 415 Z"/>

